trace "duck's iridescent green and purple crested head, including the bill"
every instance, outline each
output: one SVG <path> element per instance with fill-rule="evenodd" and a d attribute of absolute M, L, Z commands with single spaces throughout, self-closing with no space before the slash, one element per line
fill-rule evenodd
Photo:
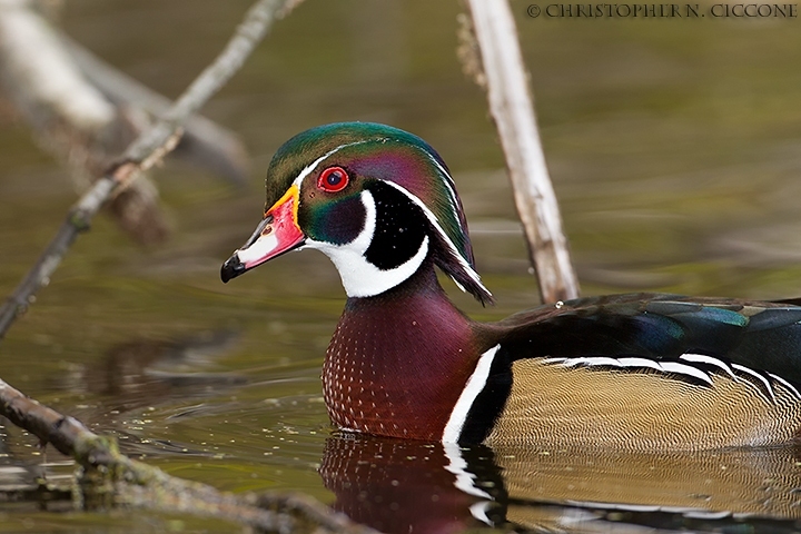
<path fill-rule="evenodd" d="M 439 155 L 404 130 L 342 122 L 281 146 L 267 171 L 265 216 L 222 265 L 222 281 L 289 250 L 316 248 L 348 297 L 379 295 L 426 260 L 482 303 L 462 202 Z"/>

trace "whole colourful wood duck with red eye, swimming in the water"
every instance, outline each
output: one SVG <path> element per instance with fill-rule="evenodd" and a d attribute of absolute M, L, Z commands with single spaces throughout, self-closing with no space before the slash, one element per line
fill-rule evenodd
<path fill-rule="evenodd" d="M 458 444 L 637 451 L 794 442 L 801 306 L 636 294 L 474 322 L 435 267 L 481 303 L 454 181 L 423 139 L 344 122 L 287 141 L 264 219 L 222 281 L 299 248 L 347 294 L 323 390 L 344 431 Z"/>

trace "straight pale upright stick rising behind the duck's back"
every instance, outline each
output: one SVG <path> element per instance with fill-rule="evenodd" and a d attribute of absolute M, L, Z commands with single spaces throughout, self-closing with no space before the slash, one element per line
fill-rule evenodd
<path fill-rule="evenodd" d="M 578 280 L 545 166 L 512 11 L 506 0 L 467 0 L 466 3 L 478 48 L 477 55 L 467 55 L 466 67 L 487 91 L 540 294 L 545 303 L 575 298 Z M 469 43 L 466 46 L 469 48 Z M 462 48 L 463 52 L 464 43 Z M 482 67 L 483 72 L 478 72 Z"/>

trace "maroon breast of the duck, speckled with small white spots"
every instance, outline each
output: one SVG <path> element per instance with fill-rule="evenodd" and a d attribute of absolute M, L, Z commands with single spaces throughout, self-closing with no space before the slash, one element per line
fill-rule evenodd
<path fill-rule="evenodd" d="M 335 425 L 396 437 L 439 437 L 472 373 L 459 367 L 471 362 L 471 330 L 465 324 L 464 330 L 456 329 L 459 337 L 442 340 L 436 335 L 441 325 L 464 316 L 454 312 L 451 320 L 449 308 L 441 307 L 423 308 L 421 316 L 417 306 L 406 309 L 406 304 L 388 303 L 402 308 L 393 315 L 384 310 L 384 301 L 352 301 L 340 318 L 324 364 L 325 400 Z"/>

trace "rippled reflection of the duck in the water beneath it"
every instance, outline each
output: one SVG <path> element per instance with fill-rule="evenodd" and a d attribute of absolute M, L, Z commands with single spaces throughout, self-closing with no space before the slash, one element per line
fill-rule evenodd
<path fill-rule="evenodd" d="M 801 527 L 801 451 L 650 454 L 443 445 L 340 434 L 320 476 L 334 507 L 386 533 Z"/>

